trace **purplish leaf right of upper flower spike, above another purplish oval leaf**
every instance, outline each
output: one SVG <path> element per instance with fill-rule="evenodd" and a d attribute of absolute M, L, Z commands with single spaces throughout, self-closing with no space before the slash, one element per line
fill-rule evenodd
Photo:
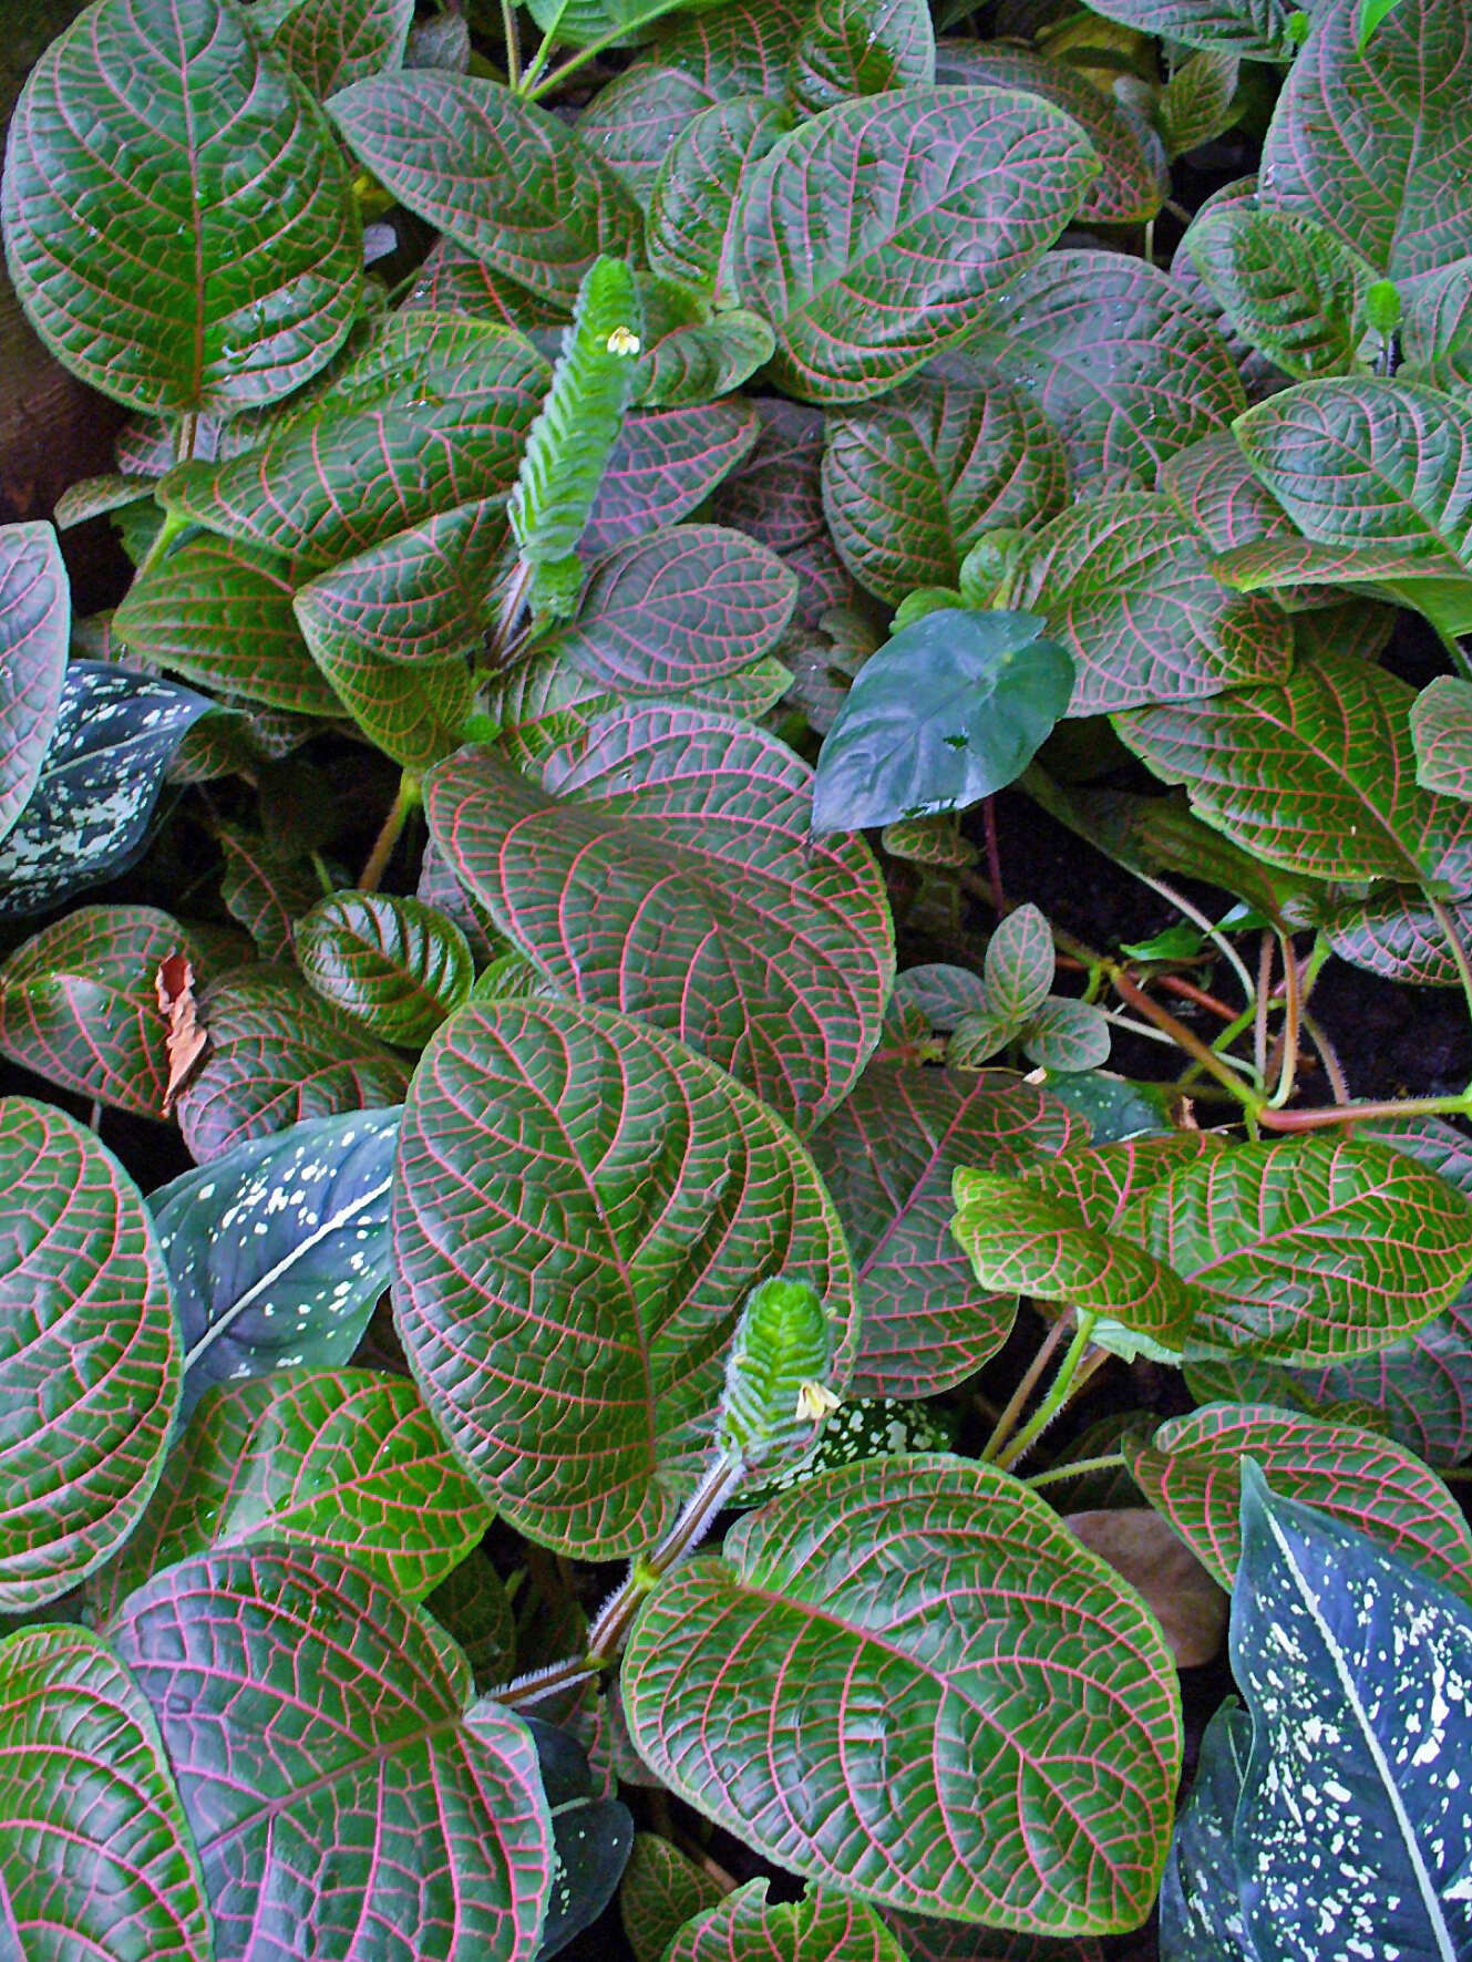
<path fill-rule="evenodd" d="M 760 434 L 750 402 L 636 410 L 608 457 L 581 551 L 614 551 L 689 518 Z"/>

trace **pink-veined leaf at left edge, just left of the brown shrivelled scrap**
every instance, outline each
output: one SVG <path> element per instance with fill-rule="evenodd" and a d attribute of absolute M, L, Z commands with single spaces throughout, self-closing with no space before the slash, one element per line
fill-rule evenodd
<path fill-rule="evenodd" d="M 155 975 L 194 940 L 153 906 L 77 906 L 0 967 L 0 1052 L 79 1097 L 163 1116 L 169 1083 Z"/>

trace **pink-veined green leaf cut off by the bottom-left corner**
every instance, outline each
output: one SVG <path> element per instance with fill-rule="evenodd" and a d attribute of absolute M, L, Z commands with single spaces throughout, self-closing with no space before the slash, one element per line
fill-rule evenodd
<path fill-rule="evenodd" d="M 86 1628 L 26 1628 L 0 1642 L 0 1721 L 12 1952 L 212 1962 L 194 1840 L 128 1670 Z"/>

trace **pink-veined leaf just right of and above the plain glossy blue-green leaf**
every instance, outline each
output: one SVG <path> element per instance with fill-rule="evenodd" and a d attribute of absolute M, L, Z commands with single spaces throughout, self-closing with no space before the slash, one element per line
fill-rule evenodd
<path fill-rule="evenodd" d="M 1293 661 L 1288 616 L 1229 593 L 1187 520 L 1140 490 L 1081 498 L 1036 532 L 1019 596 L 1074 657 L 1070 716 L 1282 681 Z"/>

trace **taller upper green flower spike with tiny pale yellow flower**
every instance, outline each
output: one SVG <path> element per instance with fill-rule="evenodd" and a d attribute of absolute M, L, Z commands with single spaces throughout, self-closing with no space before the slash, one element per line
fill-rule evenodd
<path fill-rule="evenodd" d="M 577 549 L 624 426 L 642 334 L 628 265 L 595 259 L 510 494 L 510 526 L 528 565 L 559 565 Z M 565 577 L 552 591 L 565 593 Z"/>

